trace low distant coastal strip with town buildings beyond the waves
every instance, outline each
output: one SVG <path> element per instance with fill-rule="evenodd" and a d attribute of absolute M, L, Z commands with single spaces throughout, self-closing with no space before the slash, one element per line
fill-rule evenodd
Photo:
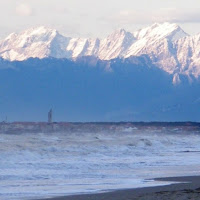
<path fill-rule="evenodd" d="M 174 133 L 200 133 L 199 122 L 0 122 L 0 134 L 137 132 L 148 128 L 154 131 L 167 129 Z"/>

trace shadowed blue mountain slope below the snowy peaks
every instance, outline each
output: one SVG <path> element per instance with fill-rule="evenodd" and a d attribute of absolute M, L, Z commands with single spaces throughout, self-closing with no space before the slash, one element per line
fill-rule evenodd
<path fill-rule="evenodd" d="M 0 61 L 0 116 L 11 121 L 199 121 L 200 84 L 155 67 L 148 56 L 101 61 Z"/>

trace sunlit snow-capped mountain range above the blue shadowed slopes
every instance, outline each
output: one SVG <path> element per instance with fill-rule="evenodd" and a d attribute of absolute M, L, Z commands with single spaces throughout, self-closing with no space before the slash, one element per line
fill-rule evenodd
<path fill-rule="evenodd" d="M 135 32 L 121 29 L 104 39 L 66 37 L 41 26 L 12 33 L 0 41 L 0 56 L 9 61 L 82 56 L 111 60 L 144 54 L 154 65 L 173 74 L 175 83 L 180 81 L 179 74 L 200 76 L 200 34 L 190 36 L 177 24 L 168 22 Z"/>

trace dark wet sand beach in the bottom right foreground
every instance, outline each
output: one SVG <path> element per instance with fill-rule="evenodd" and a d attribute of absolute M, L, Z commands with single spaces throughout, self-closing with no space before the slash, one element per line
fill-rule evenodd
<path fill-rule="evenodd" d="M 117 190 L 99 194 L 83 194 L 83 195 L 56 197 L 50 199 L 51 200 L 187 200 L 187 199 L 200 200 L 200 176 L 159 178 L 155 180 L 170 181 L 170 182 L 175 181 L 182 183 L 174 183 L 166 186 Z"/>

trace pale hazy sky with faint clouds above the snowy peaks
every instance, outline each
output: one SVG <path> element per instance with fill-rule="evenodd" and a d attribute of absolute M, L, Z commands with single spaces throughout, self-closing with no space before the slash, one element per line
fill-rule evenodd
<path fill-rule="evenodd" d="M 38 25 L 68 36 L 104 37 L 163 21 L 200 32 L 200 0 L 0 0 L 1 38 Z"/>

